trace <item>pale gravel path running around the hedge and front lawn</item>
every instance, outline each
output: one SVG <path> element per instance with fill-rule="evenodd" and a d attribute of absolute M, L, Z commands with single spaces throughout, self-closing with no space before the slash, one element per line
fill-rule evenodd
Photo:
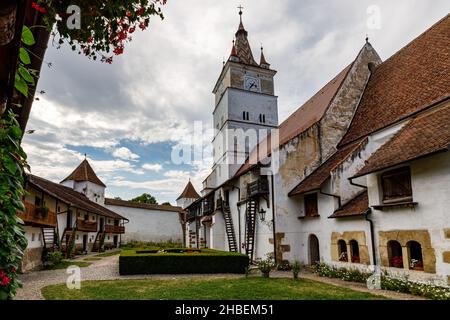
<path fill-rule="evenodd" d="M 93 256 L 93 255 L 91 255 Z M 77 259 L 77 261 L 83 261 L 83 259 L 89 256 L 85 256 Z M 198 275 L 137 275 L 137 276 L 121 276 L 119 275 L 119 255 L 103 257 L 98 261 L 89 261 L 92 263 L 90 266 L 80 268 L 81 280 L 116 280 L 116 279 L 180 279 L 180 278 L 239 278 L 243 275 L 230 275 L 230 274 L 198 274 Z M 65 283 L 68 274 L 65 269 L 61 270 L 46 270 L 46 271 L 34 271 L 20 275 L 20 280 L 23 283 L 23 288 L 19 289 L 15 297 L 16 300 L 43 300 L 44 297 L 41 294 L 41 289 L 45 286 L 52 284 Z M 276 271 L 271 273 L 271 277 L 287 278 L 292 277 L 290 272 Z M 380 296 L 384 296 L 390 299 L 398 300 L 424 300 L 422 297 L 413 296 L 409 294 L 397 293 L 387 290 L 370 290 L 364 284 L 346 282 L 340 279 L 322 278 L 313 273 L 303 272 L 300 274 L 301 278 L 319 281 L 339 287 L 349 288 L 355 291 L 368 292 Z"/>

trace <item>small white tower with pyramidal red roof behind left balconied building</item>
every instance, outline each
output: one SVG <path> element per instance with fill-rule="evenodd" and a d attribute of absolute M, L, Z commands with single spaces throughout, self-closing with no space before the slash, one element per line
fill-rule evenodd
<path fill-rule="evenodd" d="M 84 159 L 61 184 L 84 194 L 89 200 L 105 205 L 106 185 L 97 177 L 91 165 Z"/>

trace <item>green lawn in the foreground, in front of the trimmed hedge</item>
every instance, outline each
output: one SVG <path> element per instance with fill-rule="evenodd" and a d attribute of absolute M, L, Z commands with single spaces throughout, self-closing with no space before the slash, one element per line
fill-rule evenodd
<path fill-rule="evenodd" d="M 306 279 L 228 278 L 178 280 L 114 280 L 66 284 L 42 289 L 47 300 L 372 300 L 369 293 Z"/>

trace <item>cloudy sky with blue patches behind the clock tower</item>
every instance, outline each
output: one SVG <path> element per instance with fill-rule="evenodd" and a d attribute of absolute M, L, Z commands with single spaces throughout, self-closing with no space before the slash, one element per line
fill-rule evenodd
<path fill-rule="evenodd" d="M 280 121 L 356 57 L 366 34 L 385 60 L 450 11 L 448 0 L 169 0 L 165 19 L 135 32 L 112 65 L 50 44 L 27 127 L 36 131 L 24 139 L 32 173 L 59 182 L 86 153 L 108 196 L 175 203 L 189 178 L 200 190 L 210 157 L 178 164 L 171 154 L 195 121 L 211 127 L 239 4 L 255 58 L 263 44 L 278 71 Z"/>

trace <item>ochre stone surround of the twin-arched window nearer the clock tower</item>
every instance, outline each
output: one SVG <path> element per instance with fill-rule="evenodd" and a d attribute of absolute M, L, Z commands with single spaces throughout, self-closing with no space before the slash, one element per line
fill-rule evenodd
<path fill-rule="evenodd" d="M 345 231 L 344 233 L 332 232 L 331 233 L 331 260 L 339 262 L 339 247 L 338 241 L 344 240 L 347 244 L 347 254 L 351 252 L 350 241 L 358 241 L 359 247 L 359 263 L 370 264 L 369 249 L 366 244 L 366 233 L 364 231 Z M 351 257 L 348 257 L 349 260 Z"/>

